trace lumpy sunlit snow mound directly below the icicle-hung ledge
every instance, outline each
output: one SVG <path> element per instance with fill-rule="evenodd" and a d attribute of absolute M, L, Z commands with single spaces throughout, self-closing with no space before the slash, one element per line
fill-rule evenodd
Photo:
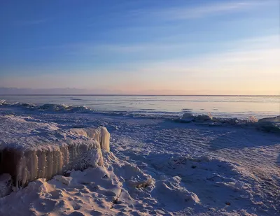
<path fill-rule="evenodd" d="M 0 198 L 0 215 L 169 215 L 151 197 L 142 199 L 153 184 L 146 188 L 127 184 L 150 177 L 104 152 L 104 166 L 38 179 Z"/>

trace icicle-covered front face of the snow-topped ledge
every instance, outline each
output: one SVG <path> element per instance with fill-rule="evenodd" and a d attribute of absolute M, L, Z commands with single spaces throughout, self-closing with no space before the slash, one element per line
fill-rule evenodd
<path fill-rule="evenodd" d="M 68 170 L 83 170 L 103 165 L 99 143 L 71 141 L 52 143 L 45 147 L 16 149 L 6 147 L 2 152 L 1 172 L 12 175 L 15 186 L 25 186 L 37 178 L 50 179 Z"/>

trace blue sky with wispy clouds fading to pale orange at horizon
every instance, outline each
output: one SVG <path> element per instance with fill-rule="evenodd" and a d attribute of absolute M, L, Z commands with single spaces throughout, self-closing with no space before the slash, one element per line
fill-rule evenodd
<path fill-rule="evenodd" d="M 279 1 L 1 1 L 0 87 L 280 94 Z"/>

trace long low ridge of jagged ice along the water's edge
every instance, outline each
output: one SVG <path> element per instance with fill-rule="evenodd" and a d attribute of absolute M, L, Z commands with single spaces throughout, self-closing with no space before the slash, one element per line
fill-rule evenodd
<path fill-rule="evenodd" d="M 269 116 L 257 119 L 256 117 L 249 115 L 245 118 L 237 117 L 214 117 L 211 113 L 193 114 L 190 110 L 183 110 L 183 112 L 158 112 L 155 110 L 148 111 L 97 111 L 87 108 L 86 106 L 68 106 L 65 104 L 43 104 L 37 106 L 29 103 L 7 103 L 5 100 L 0 101 L 0 108 L 3 110 L 22 110 L 24 112 L 55 112 L 55 113 L 83 113 L 92 115 L 104 115 L 106 116 L 120 116 L 120 117 L 132 117 L 132 118 L 144 118 L 154 120 L 169 120 L 180 123 L 195 122 L 197 124 L 207 124 L 209 126 L 228 126 L 235 125 L 238 127 L 253 127 L 255 129 L 267 132 L 275 132 L 280 134 L 280 115 Z"/>

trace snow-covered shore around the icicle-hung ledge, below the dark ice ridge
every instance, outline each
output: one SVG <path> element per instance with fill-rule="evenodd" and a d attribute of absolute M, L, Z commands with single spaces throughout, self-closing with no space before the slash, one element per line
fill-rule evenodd
<path fill-rule="evenodd" d="M 82 128 L 104 126 L 111 134 L 110 150 L 100 147 L 99 157 L 90 154 L 94 162 L 85 170 L 39 178 L 21 189 L 14 185 L 14 192 L 0 198 L 1 216 L 280 215 L 277 133 L 230 124 L 8 108 L 0 110 L 0 121 L 5 122 L 0 124 L 2 146 L 26 131 L 35 133 L 31 139 L 43 136 L 48 143 L 51 138 L 88 142 L 92 138 Z M 106 143 L 101 137 L 94 136 L 97 152 L 98 144 Z M 0 191 L 7 180 L 1 175 Z"/>

